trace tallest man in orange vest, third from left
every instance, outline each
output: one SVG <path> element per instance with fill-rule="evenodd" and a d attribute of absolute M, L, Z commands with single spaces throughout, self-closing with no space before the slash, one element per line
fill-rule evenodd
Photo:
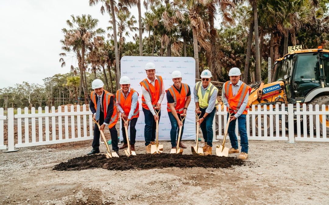
<path fill-rule="evenodd" d="M 160 120 L 154 109 L 161 109 L 161 102 L 164 99 L 164 83 L 160 75 L 155 75 L 155 65 L 152 62 L 146 63 L 145 71 L 147 77 L 140 82 L 142 86 L 142 109 L 145 118 L 145 146 L 146 153 L 151 153 L 151 145 L 155 145 L 156 120 Z"/>

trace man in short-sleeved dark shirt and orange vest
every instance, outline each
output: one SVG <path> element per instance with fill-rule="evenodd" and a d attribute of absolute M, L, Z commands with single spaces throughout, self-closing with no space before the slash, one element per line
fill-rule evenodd
<path fill-rule="evenodd" d="M 166 90 L 167 111 L 171 123 L 171 149 L 176 149 L 176 146 L 186 149 L 182 141 L 179 142 L 179 145 L 176 143 L 180 126 L 182 126 L 181 137 L 183 135 L 185 122 L 185 120 L 182 122 L 178 115 L 186 116 L 187 107 L 189 107 L 191 101 L 191 90 L 188 84 L 182 83 L 182 73 L 180 71 L 173 71 L 171 78 L 174 84 Z"/>

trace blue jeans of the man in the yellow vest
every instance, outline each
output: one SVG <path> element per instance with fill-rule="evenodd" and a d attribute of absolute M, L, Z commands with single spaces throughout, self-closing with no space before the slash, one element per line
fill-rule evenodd
<path fill-rule="evenodd" d="M 206 110 L 207 108 L 200 108 L 201 111 L 200 117 L 202 117 L 206 113 Z M 216 113 L 216 107 L 211 113 L 207 115 L 206 119 L 204 119 L 203 122 L 200 124 L 203 134 L 203 139 L 205 140 L 205 142 L 207 142 L 207 145 L 209 145 L 210 147 L 213 146 L 213 137 L 214 137 L 213 120 L 215 117 L 215 113 Z"/>

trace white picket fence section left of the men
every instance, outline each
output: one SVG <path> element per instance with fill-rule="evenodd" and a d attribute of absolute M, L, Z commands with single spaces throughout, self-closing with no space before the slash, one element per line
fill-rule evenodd
<path fill-rule="evenodd" d="M 0 119 L 4 117 L 0 116 Z M 14 123 L 14 119 L 17 124 Z M 0 137 L 3 136 L 3 134 L 1 135 L 3 127 L 3 120 L 0 120 Z M 14 127 L 17 128 L 15 136 Z M 14 151 L 14 147 L 48 145 L 89 139 L 93 139 L 93 124 L 92 113 L 87 111 L 86 105 L 83 105 L 83 111 L 80 111 L 80 105 L 76 106 L 76 111 L 74 111 L 74 106 L 71 105 L 69 112 L 67 106 L 64 107 L 64 112 L 62 112 L 61 106 L 58 107 L 58 112 L 55 112 L 55 107 L 51 107 L 51 112 L 49 112 L 48 107 L 45 107 L 44 113 L 42 113 L 41 107 L 38 108 L 38 113 L 36 113 L 35 108 L 31 109 L 31 113 L 28 113 L 28 108 L 25 108 L 24 114 L 18 108 L 15 115 L 12 108 L 8 109 L 8 151 Z M 3 137 L 0 140 L 3 142 Z M 6 146 L 0 148 L 6 149 Z"/>

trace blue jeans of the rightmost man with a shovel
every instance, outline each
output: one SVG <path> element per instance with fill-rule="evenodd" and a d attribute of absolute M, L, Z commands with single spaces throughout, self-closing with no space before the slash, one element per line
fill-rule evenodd
<path fill-rule="evenodd" d="M 228 118 L 228 115 L 227 115 Z M 230 122 L 228 126 L 228 134 L 230 137 L 231 145 L 234 149 L 239 149 L 238 145 L 238 138 L 235 134 L 235 125 L 236 125 L 237 119 Z M 248 153 L 248 136 L 247 136 L 247 130 L 246 130 L 246 115 L 241 114 L 238 117 L 238 128 L 240 132 L 240 145 L 241 145 L 241 152 Z"/>

